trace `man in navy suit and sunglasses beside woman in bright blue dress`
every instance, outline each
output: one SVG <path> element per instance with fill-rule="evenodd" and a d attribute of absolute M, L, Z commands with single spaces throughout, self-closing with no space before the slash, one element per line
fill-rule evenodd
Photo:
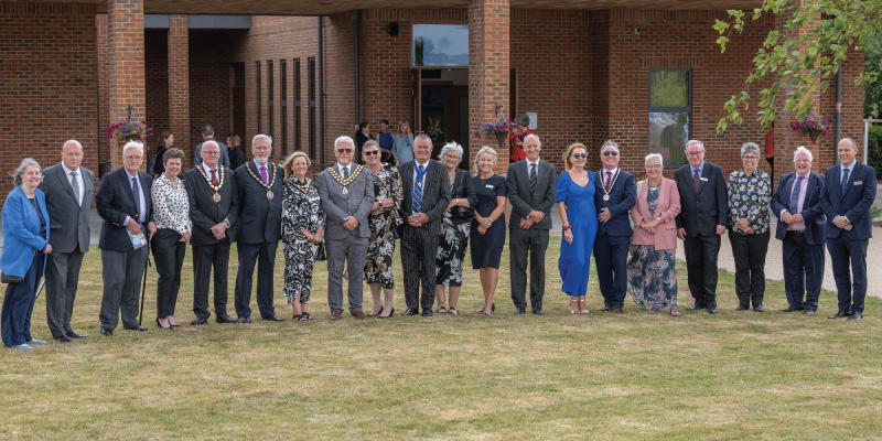
<path fill-rule="evenodd" d="M 594 265 L 603 294 L 603 310 L 621 314 L 627 288 L 627 254 L 631 249 L 631 207 L 637 202 L 634 175 L 619 169 L 619 146 L 606 141 L 600 151 L 603 170 L 594 180 L 598 235 Z"/>

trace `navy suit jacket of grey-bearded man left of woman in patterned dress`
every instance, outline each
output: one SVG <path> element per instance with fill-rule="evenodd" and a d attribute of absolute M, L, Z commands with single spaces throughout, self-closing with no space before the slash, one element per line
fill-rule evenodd
<path fill-rule="evenodd" d="M 267 198 L 267 187 L 257 182 L 260 169 L 248 161 L 236 169 L 236 191 L 239 193 L 239 226 L 236 240 L 244 244 L 275 243 L 282 238 L 282 192 L 284 170 L 267 163 L 267 180 L 272 182 L 272 198 Z M 273 178 L 276 181 L 273 182 Z"/>

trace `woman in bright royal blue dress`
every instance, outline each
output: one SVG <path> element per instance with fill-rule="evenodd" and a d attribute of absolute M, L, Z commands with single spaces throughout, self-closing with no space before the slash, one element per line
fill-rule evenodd
<path fill-rule="evenodd" d="M 556 202 L 563 223 L 558 269 L 563 284 L 560 290 L 570 297 L 571 314 L 588 314 L 585 292 L 591 267 L 591 249 L 598 233 L 594 209 L 594 179 L 585 170 L 588 150 L 580 143 L 570 144 L 563 163 L 567 170 L 557 181 Z"/>

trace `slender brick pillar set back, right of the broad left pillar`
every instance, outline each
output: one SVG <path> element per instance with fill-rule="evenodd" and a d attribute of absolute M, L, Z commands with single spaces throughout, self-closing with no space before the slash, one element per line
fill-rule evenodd
<path fill-rule="evenodd" d="M 174 146 L 193 159 L 190 143 L 190 28 L 187 15 L 169 18 L 169 127 Z"/>

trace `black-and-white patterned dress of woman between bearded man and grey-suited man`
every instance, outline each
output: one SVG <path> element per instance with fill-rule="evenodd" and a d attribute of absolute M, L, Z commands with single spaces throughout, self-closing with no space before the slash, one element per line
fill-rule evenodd
<path fill-rule="evenodd" d="M 312 267 L 319 244 L 306 239 L 303 230 L 315 233 L 319 227 L 324 227 L 324 208 L 315 183 L 309 178 L 305 183 L 301 182 L 293 174 L 286 178 L 282 191 L 282 244 L 288 303 L 298 297 L 301 303 L 310 302 Z"/>

